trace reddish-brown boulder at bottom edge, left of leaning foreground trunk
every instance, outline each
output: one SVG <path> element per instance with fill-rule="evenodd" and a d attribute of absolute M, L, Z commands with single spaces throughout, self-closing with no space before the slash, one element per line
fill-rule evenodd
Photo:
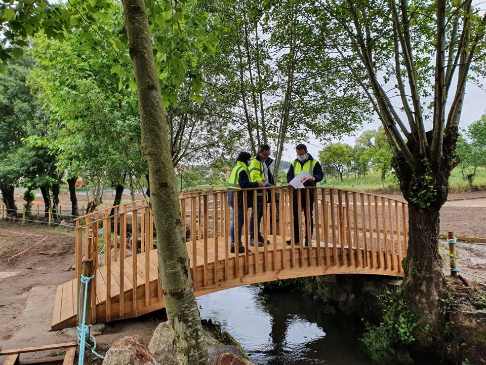
<path fill-rule="evenodd" d="M 166 364 L 168 362 L 164 362 Z M 103 365 L 161 365 L 149 352 L 139 336 L 115 341 L 106 352 Z"/>

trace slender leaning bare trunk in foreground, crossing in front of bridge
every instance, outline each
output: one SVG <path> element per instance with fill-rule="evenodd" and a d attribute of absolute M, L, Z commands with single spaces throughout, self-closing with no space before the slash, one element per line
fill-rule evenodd
<path fill-rule="evenodd" d="M 165 113 L 143 0 L 123 0 L 135 70 L 142 151 L 147 157 L 150 201 L 157 232 L 158 275 L 180 364 L 206 364 L 208 351 L 194 297 L 189 257 L 172 164 Z"/>

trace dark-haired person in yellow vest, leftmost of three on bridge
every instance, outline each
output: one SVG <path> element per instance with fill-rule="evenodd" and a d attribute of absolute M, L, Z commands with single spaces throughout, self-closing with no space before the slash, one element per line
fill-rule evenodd
<path fill-rule="evenodd" d="M 241 189 L 248 189 L 248 188 L 258 188 L 264 185 L 263 181 L 250 181 L 250 171 L 248 170 L 248 166 L 250 166 L 250 159 L 252 155 L 248 152 L 240 152 L 238 157 L 236 158 L 236 166 L 233 167 L 231 170 L 231 174 L 229 175 L 229 183 L 228 183 L 228 205 L 231 207 L 233 219 L 231 220 L 231 228 L 229 230 L 229 237 L 231 239 L 230 245 L 230 252 L 234 253 L 234 216 L 237 212 L 238 214 L 238 252 L 243 253 L 245 252 L 245 247 L 243 247 L 243 243 L 241 242 L 241 232 L 243 231 L 243 224 L 245 222 L 245 210 L 243 204 L 243 194 L 244 192 L 238 191 Z M 235 206 L 234 195 L 237 194 L 237 206 Z M 246 192 L 247 194 L 247 203 L 248 207 L 253 206 L 253 194 L 252 191 L 249 190 Z"/>

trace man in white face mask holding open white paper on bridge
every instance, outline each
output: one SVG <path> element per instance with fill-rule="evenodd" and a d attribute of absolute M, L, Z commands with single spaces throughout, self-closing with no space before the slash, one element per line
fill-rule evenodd
<path fill-rule="evenodd" d="M 298 144 L 295 148 L 295 152 L 297 153 L 297 158 L 292 161 L 290 166 L 289 172 L 287 172 L 287 182 L 291 184 L 291 181 L 294 177 L 299 176 L 299 181 L 295 183 L 292 181 L 292 185 L 295 187 L 299 185 L 299 182 L 302 184 L 302 188 L 305 187 L 315 187 L 317 182 L 322 180 L 324 173 L 322 172 L 322 167 L 320 166 L 319 161 L 315 160 L 310 154 L 307 153 L 307 146 L 305 144 Z M 299 186 L 300 188 L 300 186 Z M 313 209 L 314 209 L 314 194 L 310 192 L 310 217 L 307 216 L 307 200 L 305 197 L 305 189 L 298 189 L 294 192 L 293 198 L 293 205 L 294 205 L 294 240 L 295 244 L 300 244 L 300 227 L 299 227 L 299 214 L 302 212 L 299 211 L 299 207 L 297 204 L 297 194 L 301 195 L 301 202 L 302 202 L 302 210 L 304 211 L 305 221 L 302 222 L 304 227 L 306 226 L 307 219 L 310 218 L 310 227 L 311 227 L 311 234 L 314 232 L 314 216 L 313 216 Z M 312 240 L 312 237 L 307 237 L 307 229 L 305 229 L 305 245 L 308 245 L 309 239 Z M 287 244 L 291 244 L 291 240 L 287 241 Z"/>

